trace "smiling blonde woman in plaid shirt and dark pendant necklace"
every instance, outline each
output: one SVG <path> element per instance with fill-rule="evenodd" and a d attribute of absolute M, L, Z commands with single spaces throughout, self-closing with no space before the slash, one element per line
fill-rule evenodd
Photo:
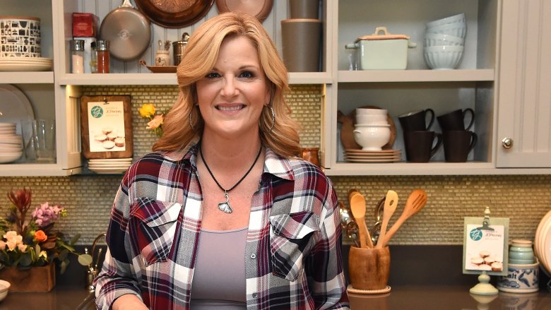
<path fill-rule="evenodd" d="M 165 133 L 126 172 L 99 309 L 348 309 L 337 198 L 297 157 L 287 71 L 256 18 L 191 36 Z"/>

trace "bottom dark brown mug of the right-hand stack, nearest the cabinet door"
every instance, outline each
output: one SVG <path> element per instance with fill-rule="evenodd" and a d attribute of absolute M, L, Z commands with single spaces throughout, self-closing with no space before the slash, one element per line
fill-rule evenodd
<path fill-rule="evenodd" d="M 446 162 L 466 162 L 478 140 L 476 133 L 466 130 L 444 131 L 442 137 Z"/>

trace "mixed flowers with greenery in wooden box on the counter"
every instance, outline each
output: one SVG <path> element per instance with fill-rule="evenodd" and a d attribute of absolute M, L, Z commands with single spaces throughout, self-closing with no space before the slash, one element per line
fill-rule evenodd
<path fill-rule="evenodd" d="M 30 209 L 31 196 L 30 189 L 8 192 L 11 201 L 8 215 L 0 217 L 0 269 L 25 270 L 51 265 L 55 259 L 64 273 L 69 265 L 69 254 L 80 255 L 73 248 L 80 234 L 67 242 L 63 233 L 54 231 L 55 222 L 67 215 L 65 208 L 46 202 Z M 87 254 L 82 255 L 87 258 L 84 257 Z"/>

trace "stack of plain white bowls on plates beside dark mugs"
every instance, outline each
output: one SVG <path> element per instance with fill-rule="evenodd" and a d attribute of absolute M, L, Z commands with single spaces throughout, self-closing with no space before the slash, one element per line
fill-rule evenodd
<path fill-rule="evenodd" d="M 356 109 L 354 139 L 362 150 L 379 151 L 389 143 L 391 131 L 386 109 Z"/>

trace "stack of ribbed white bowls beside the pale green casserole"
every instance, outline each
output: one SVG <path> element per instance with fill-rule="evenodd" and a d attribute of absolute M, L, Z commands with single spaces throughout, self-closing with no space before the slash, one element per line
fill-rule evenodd
<path fill-rule="evenodd" d="M 465 13 L 427 23 L 424 44 L 427 66 L 437 70 L 457 68 L 463 58 L 466 34 Z"/>

